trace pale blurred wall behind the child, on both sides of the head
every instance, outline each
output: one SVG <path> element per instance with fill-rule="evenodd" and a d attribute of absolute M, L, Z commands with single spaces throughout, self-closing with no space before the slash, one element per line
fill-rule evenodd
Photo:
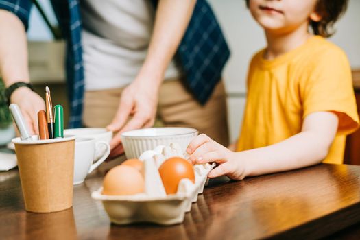
<path fill-rule="evenodd" d="M 228 92 L 230 138 L 238 136 L 245 105 L 245 77 L 248 62 L 259 49 L 265 47 L 263 31 L 255 23 L 244 0 L 208 0 L 218 20 L 230 49 L 230 60 L 224 70 Z M 350 0 L 348 10 L 337 22 L 336 34 L 330 38 L 346 51 L 353 68 L 360 68 L 360 1 Z"/>

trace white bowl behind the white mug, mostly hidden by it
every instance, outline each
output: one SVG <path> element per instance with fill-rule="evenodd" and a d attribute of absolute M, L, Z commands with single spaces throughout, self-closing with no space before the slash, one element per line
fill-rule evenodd
<path fill-rule="evenodd" d="M 76 137 L 84 137 L 95 139 L 96 142 L 105 141 L 110 144 L 112 132 L 106 128 L 69 128 L 64 130 L 65 135 L 74 135 Z M 95 160 L 101 158 L 106 151 L 106 147 L 102 146 L 95 152 Z"/>

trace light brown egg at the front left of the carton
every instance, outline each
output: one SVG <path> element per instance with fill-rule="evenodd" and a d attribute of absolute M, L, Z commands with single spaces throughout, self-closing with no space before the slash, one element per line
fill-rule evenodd
<path fill-rule="evenodd" d="M 104 195 L 134 195 L 144 192 L 145 182 L 134 167 L 119 165 L 108 171 L 103 187 Z"/>

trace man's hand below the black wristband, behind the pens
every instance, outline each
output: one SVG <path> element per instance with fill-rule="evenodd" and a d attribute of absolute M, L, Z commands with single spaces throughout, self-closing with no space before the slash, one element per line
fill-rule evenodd
<path fill-rule="evenodd" d="M 10 102 L 19 105 L 30 134 L 38 134 L 38 111 L 45 110 L 44 100 L 31 89 L 21 87 L 12 93 Z"/>

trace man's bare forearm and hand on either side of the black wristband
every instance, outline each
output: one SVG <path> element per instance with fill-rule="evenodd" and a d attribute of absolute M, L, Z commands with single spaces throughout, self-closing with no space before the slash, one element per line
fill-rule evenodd
<path fill-rule="evenodd" d="M 7 10 L 0 10 L 0 75 L 5 86 L 29 82 L 25 27 L 16 14 Z M 21 87 L 12 93 L 10 102 L 19 105 L 30 134 L 38 134 L 38 111 L 45 110 L 43 99 Z"/>

